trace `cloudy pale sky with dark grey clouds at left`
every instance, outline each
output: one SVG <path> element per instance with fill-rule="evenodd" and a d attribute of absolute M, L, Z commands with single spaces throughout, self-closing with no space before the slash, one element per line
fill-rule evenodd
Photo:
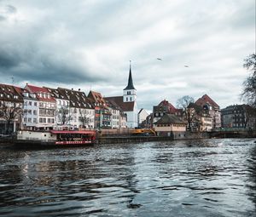
<path fill-rule="evenodd" d="M 0 0 L 0 83 L 241 104 L 255 0 Z M 158 60 L 160 59 L 160 60 Z"/>

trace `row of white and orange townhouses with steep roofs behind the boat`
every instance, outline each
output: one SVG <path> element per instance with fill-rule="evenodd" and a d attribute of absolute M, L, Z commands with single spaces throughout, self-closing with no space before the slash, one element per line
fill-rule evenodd
<path fill-rule="evenodd" d="M 26 84 L 0 84 L 0 134 L 16 128 L 126 128 L 126 115 L 102 94 Z"/>

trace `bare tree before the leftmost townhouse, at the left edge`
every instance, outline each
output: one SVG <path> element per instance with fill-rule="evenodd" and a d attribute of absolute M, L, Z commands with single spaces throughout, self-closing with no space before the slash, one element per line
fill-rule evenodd
<path fill-rule="evenodd" d="M 0 105 L 0 118 L 6 121 L 5 134 L 9 134 L 10 124 L 15 122 L 22 113 L 23 109 L 15 103 L 9 106 L 3 102 L 3 104 Z"/>

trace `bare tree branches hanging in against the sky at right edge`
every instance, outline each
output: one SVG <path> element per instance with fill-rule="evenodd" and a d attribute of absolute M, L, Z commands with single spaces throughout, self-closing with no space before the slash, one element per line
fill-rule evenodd
<path fill-rule="evenodd" d="M 250 106 L 256 107 L 256 54 L 247 56 L 243 67 L 251 71 L 252 74 L 243 82 L 241 98 L 247 101 Z"/>

